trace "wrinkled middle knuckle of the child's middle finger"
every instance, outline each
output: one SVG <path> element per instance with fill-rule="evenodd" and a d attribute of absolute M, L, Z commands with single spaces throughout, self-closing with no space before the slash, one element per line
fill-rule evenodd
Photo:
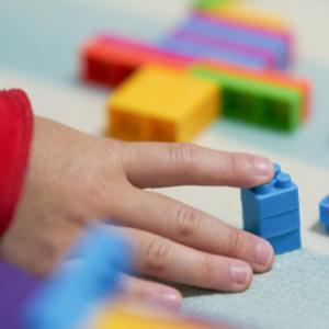
<path fill-rule="evenodd" d="M 202 214 L 190 207 L 181 207 L 177 213 L 178 234 L 182 237 L 193 236 L 203 226 Z"/>

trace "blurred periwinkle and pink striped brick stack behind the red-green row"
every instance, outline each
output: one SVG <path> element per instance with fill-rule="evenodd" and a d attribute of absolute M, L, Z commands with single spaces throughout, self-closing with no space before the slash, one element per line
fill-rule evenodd
<path fill-rule="evenodd" d="M 184 46 L 179 47 L 183 43 Z M 179 50 L 185 56 L 217 58 L 263 68 L 285 69 L 291 63 L 292 41 L 277 33 L 269 33 L 219 18 L 196 13 L 181 24 L 175 33 L 159 45 L 169 52 Z M 253 60 L 252 60 L 253 59 Z"/>

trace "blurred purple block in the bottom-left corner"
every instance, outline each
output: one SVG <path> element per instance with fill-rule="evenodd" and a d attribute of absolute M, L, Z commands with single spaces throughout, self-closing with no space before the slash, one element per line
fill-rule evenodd
<path fill-rule="evenodd" d="M 0 328 L 19 328 L 20 314 L 39 281 L 0 261 Z"/>

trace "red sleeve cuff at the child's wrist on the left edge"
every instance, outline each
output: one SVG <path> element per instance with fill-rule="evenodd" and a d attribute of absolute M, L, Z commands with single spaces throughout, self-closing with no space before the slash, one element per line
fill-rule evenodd
<path fill-rule="evenodd" d="M 0 237 L 14 215 L 26 170 L 33 114 L 21 90 L 0 91 Z"/>

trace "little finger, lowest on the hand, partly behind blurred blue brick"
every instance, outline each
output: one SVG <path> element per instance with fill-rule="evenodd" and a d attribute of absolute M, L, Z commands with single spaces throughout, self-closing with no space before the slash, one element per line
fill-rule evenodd
<path fill-rule="evenodd" d="M 121 288 L 129 298 L 173 313 L 179 311 L 182 305 L 181 293 L 164 284 L 123 275 Z"/>

